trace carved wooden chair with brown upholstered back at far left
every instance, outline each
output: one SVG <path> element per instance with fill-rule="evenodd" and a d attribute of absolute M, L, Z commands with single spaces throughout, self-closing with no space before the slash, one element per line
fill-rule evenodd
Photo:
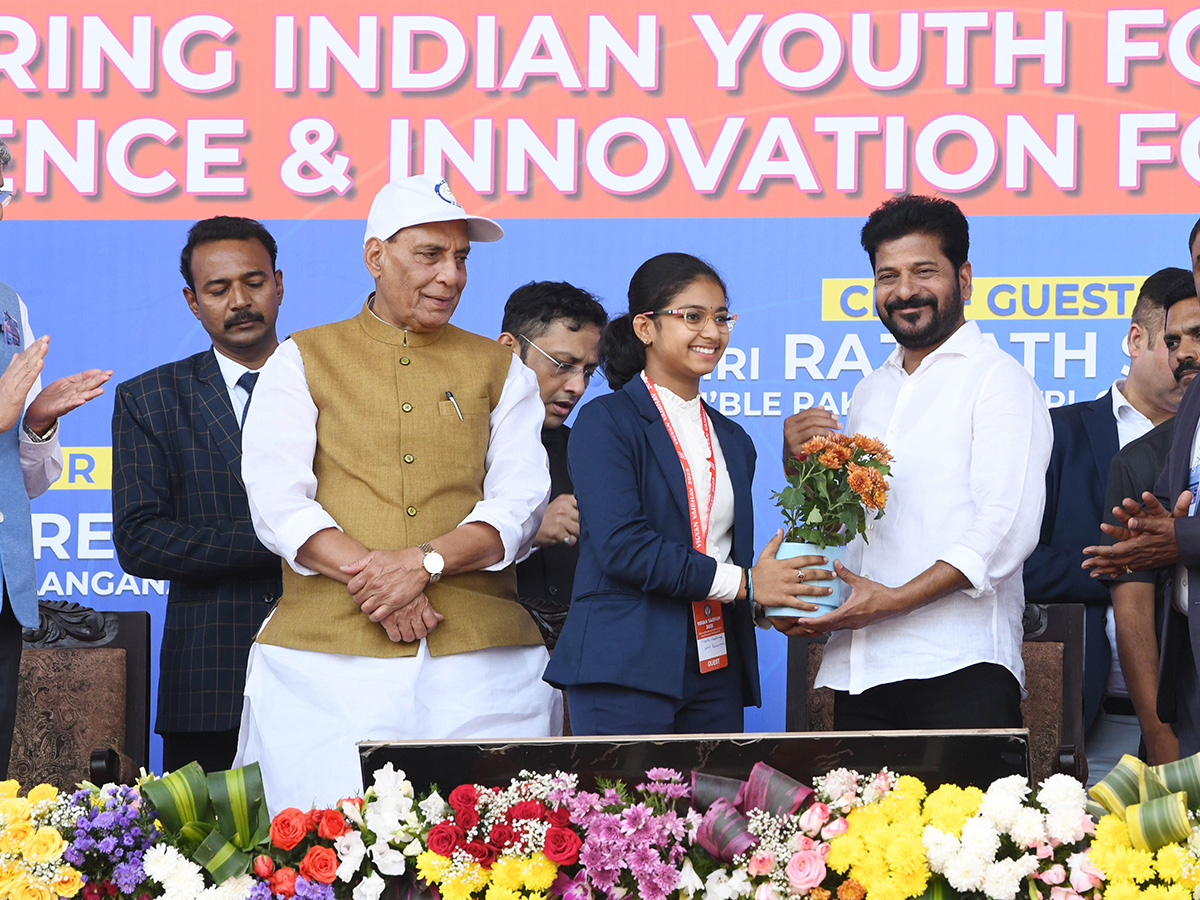
<path fill-rule="evenodd" d="M 42 601 L 25 629 L 10 778 L 73 790 L 150 760 L 150 613 Z"/>

